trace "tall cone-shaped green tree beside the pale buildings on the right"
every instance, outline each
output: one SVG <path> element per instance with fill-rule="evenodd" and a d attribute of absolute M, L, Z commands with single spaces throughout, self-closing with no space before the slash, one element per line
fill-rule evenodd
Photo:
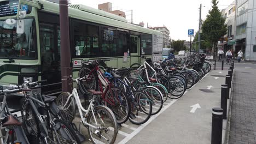
<path fill-rule="evenodd" d="M 225 18 L 218 9 L 218 3 L 217 0 L 212 0 L 212 9 L 202 24 L 203 37 L 212 45 L 212 55 L 214 55 L 218 40 L 228 31 Z"/>

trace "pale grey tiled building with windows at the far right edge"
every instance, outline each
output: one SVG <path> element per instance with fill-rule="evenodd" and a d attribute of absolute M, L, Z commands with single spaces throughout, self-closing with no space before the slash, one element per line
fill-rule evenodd
<path fill-rule="evenodd" d="M 256 61 L 256 0 L 236 0 L 236 52 Z"/>

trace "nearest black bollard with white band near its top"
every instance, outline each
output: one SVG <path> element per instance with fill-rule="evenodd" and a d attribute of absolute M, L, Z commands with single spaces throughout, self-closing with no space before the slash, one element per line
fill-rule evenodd
<path fill-rule="evenodd" d="M 222 115 L 223 109 L 219 107 L 212 109 L 212 144 L 222 143 Z"/>

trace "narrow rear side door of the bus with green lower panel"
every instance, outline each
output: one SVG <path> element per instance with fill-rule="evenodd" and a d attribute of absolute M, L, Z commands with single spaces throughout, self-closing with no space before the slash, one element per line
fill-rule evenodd
<path fill-rule="evenodd" d="M 139 37 L 135 35 L 130 36 L 130 65 L 139 62 Z"/>

